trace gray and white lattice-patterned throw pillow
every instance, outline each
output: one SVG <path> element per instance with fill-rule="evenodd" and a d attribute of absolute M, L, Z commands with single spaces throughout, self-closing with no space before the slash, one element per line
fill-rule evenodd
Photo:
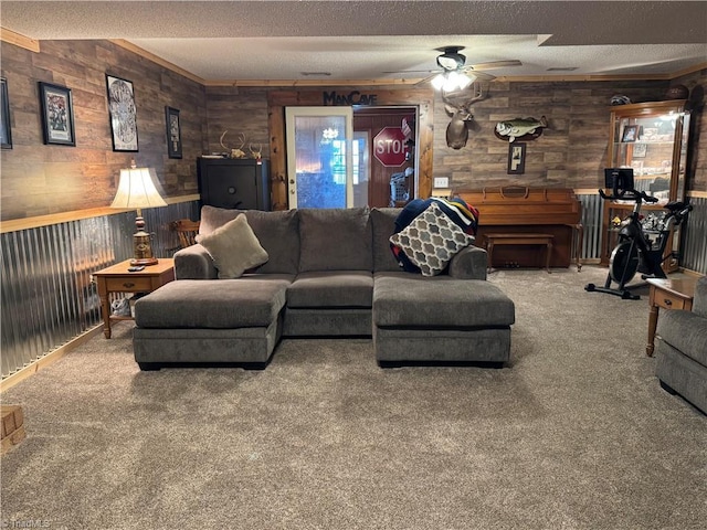
<path fill-rule="evenodd" d="M 436 276 L 457 252 L 474 243 L 474 237 L 465 234 L 436 203 L 432 203 L 393 234 L 390 242 L 402 248 L 423 276 Z"/>

